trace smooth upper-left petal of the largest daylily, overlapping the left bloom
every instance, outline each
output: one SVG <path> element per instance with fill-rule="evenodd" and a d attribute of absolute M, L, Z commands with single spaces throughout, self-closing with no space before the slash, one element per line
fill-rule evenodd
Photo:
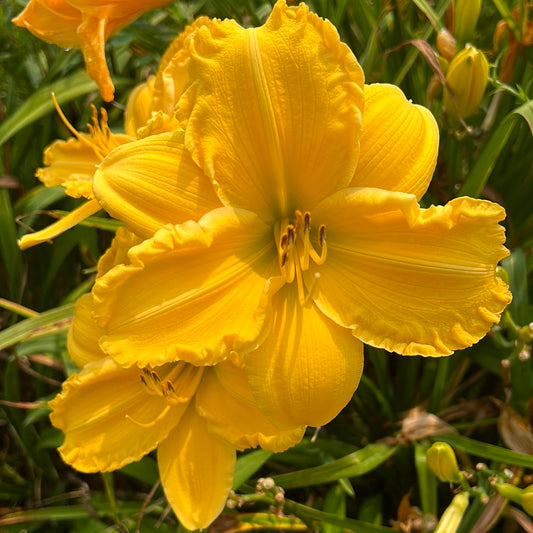
<path fill-rule="evenodd" d="M 102 207 L 141 237 L 221 206 L 182 140 L 183 133 L 163 133 L 120 146 L 94 175 Z"/>

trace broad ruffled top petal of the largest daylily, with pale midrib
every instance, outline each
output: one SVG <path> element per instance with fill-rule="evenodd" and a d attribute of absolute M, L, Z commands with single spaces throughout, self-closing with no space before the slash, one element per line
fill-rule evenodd
<path fill-rule="evenodd" d="M 363 71 L 328 21 L 280 1 L 260 28 L 214 20 L 190 42 L 178 117 L 226 205 L 273 220 L 348 185 Z"/>

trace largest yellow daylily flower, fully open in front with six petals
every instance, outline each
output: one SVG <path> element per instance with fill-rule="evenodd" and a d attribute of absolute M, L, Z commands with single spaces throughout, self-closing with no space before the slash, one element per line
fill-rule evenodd
<path fill-rule="evenodd" d="M 184 131 L 117 147 L 94 177 L 101 205 L 147 239 L 93 290 L 107 355 L 210 365 L 238 353 L 274 424 L 314 426 L 351 398 L 363 342 L 449 355 L 499 321 L 504 210 L 420 208 L 436 122 L 398 88 L 364 86 L 328 21 L 279 1 L 262 27 L 204 20 L 184 46 Z M 223 207 L 164 226 L 213 192 Z"/>

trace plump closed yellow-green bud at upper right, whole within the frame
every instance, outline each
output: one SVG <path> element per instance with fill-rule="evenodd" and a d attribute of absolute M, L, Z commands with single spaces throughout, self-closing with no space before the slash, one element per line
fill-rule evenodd
<path fill-rule="evenodd" d="M 453 116 L 467 118 L 474 114 L 485 93 L 489 79 L 487 58 L 473 46 L 459 52 L 450 63 L 444 87 L 444 106 Z"/>

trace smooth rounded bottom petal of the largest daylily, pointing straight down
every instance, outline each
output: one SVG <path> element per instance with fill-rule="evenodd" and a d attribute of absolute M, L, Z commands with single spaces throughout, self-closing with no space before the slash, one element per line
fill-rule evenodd
<path fill-rule="evenodd" d="M 300 305 L 294 285 L 274 295 L 270 334 L 245 357 L 257 406 L 284 429 L 327 424 L 363 371 L 363 344 L 312 303 Z"/>

